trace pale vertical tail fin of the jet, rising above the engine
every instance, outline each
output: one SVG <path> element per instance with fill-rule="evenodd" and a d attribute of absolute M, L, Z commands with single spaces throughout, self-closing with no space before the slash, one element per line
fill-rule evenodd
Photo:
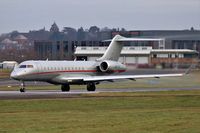
<path fill-rule="evenodd" d="M 110 45 L 108 46 L 106 52 L 104 53 L 104 55 L 97 59 L 98 61 L 100 60 L 112 60 L 112 61 L 118 61 L 119 56 L 121 54 L 121 50 L 123 48 L 122 43 L 118 42 L 117 40 L 119 39 L 123 39 L 124 37 L 120 36 L 120 35 L 116 35 Z"/>

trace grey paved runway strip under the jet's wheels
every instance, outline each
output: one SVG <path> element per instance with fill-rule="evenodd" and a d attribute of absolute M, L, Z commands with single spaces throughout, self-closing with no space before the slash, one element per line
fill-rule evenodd
<path fill-rule="evenodd" d="M 117 92 L 158 92 L 158 91 L 181 91 L 181 90 L 200 90 L 200 88 L 127 88 L 127 89 L 97 89 L 94 92 L 86 90 L 72 90 L 61 92 L 59 90 L 40 90 L 26 91 L 0 91 L 1 100 L 9 99 L 56 99 L 56 98 L 81 98 L 82 94 L 95 93 L 117 93 Z"/>

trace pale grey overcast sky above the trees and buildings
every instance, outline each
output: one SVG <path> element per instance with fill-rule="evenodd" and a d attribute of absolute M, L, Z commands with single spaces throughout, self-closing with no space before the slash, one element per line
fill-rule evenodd
<path fill-rule="evenodd" d="M 0 0 L 0 34 L 90 26 L 200 30 L 200 0 Z"/>

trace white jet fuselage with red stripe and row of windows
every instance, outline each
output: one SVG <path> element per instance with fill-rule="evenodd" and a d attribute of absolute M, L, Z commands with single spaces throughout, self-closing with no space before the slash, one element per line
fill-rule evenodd
<path fill-rule="evenodd" d="M 76 79 L 76 77 L 110 74 L 99 72 L 98 65 L 99 62 L 96 61 L 25 61 L 14 68 L 11 77 L 20 81 L 45 81 L 53 84 L 64 84 L 63 81 L 59 80 L 60 77 Z M 123 71 L 125 71 L 125 67 L 118 67 L 112 73 Z"/>

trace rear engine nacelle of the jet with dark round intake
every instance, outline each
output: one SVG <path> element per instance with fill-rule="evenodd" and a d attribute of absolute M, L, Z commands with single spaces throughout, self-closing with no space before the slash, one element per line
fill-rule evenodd
<path fill-rule="evenodd" d="M 114 72 L 124 72 L 126 70 L 126 66 L 116 62 L 116 61 L 102 61 L 99 66 L 100 72 L 105 73 L 114 73 Z"/>

